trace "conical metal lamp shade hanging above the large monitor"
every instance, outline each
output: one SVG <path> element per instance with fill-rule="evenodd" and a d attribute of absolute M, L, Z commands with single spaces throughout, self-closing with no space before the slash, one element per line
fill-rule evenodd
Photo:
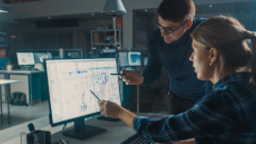
<path fill-rule="evenodd" d="M 127 12 L 121 0 L 107 0 L 101 13 L 108 15 L 123 15 Z"/>

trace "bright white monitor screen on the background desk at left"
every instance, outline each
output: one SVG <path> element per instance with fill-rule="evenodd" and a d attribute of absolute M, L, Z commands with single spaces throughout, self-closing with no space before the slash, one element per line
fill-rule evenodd
<path fill-rule="evenodd" d="M 19 65 L 35 65 L 33 52 L 17 52 Z"/>

